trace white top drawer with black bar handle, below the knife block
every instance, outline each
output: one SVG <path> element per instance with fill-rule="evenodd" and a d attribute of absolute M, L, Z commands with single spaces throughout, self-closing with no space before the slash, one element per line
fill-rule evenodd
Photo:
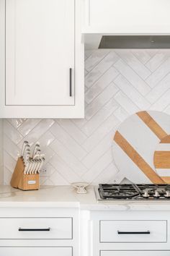
<path fill-rule="evenodd" d="M 0 239 L 73 239 L 72 218 L 0 218 Z"/>

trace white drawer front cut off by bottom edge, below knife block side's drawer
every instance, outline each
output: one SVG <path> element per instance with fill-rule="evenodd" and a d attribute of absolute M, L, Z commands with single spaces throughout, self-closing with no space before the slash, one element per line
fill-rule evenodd
<path fill-rule="evenodd" d="M 3 256 L 73 256 L 72 247 L 0 247 Z"/>

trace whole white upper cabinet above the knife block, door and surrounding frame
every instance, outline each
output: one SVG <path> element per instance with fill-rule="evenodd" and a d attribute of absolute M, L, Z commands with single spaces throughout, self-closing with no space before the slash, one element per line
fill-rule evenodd
<path fill-rule="evenodd" d="M 0 1 L 5 38 L 0 117 L 83 117 L 78 1 Z"/>

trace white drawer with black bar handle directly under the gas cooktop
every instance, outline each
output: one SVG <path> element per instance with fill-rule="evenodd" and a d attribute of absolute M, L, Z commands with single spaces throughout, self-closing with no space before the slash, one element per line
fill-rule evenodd
<path fill-rule="evenodd" d="M 166 242 L 166 221 L 100 221 L 100 242 Z"/>

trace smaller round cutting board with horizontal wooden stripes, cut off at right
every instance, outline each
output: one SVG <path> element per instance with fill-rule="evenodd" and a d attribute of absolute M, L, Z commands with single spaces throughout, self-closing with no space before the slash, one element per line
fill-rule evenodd
<path fill-rule="evenodd" d="M 153 158 L 156 173 L 166 183 L 170 183 L 170 135 L 164 137 L 157 145 Z"/>

